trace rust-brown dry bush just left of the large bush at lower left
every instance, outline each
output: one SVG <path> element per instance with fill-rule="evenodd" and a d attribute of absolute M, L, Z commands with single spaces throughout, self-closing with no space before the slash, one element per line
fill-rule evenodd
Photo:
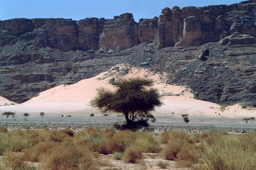
<path fill-rule="evenodd" d="M 43 159 L 47 152 L 56 147 L 56 143 L 53 141 L 44 141 L 36 144 L 34 147 L 23 150 L 23 160 L 30 162 L 39 162 Z"/>

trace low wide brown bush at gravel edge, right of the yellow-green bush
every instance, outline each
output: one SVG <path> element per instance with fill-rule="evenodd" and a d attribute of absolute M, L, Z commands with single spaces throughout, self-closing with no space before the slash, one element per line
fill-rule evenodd
<path fill-rule="evenodd" d="M 180 140 L 190 144 L 194 144 L 196 141 L 186 132 L 183 131 L 165 131 L 161 133 L 161 143 L 167 144 L 169 140 Z"/>

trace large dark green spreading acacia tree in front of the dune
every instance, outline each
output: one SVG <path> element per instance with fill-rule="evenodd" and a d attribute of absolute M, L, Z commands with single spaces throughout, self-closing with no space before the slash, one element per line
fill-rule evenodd
<path fill-rule="evenodd" d="M 97 89 L 90 105 L 102 114 L 115 112 L 125 115 L 128 127 L 138 119 L 151 118 L 155 121 L 151 112 L 163 103 L 158 89 L 152 88 L 153 84 L 153 80 L 139 77 L 112 82 L 116 90 Z"/>

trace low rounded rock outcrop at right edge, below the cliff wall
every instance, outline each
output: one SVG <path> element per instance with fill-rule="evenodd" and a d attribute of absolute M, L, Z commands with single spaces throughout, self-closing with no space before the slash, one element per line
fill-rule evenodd
<path fill-rule="evenodd" d="M 256 38 L 251 35 L 234 32 L 232 35 L 221 39 L 219 44 L 220 45 L 256 44 Z"/>

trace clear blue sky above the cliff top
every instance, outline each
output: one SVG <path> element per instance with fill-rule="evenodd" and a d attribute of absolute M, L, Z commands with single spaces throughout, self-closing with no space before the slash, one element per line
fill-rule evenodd
<path fill-rule="evenodd" d="M 135 21 L 161 15 L 173 6 L 208 6 L 240 3 L 241 0 L 0 0 L 0 20 L 13 18 L 97 17 L 112 19 L 122 13 L 133 13 Z"/>

